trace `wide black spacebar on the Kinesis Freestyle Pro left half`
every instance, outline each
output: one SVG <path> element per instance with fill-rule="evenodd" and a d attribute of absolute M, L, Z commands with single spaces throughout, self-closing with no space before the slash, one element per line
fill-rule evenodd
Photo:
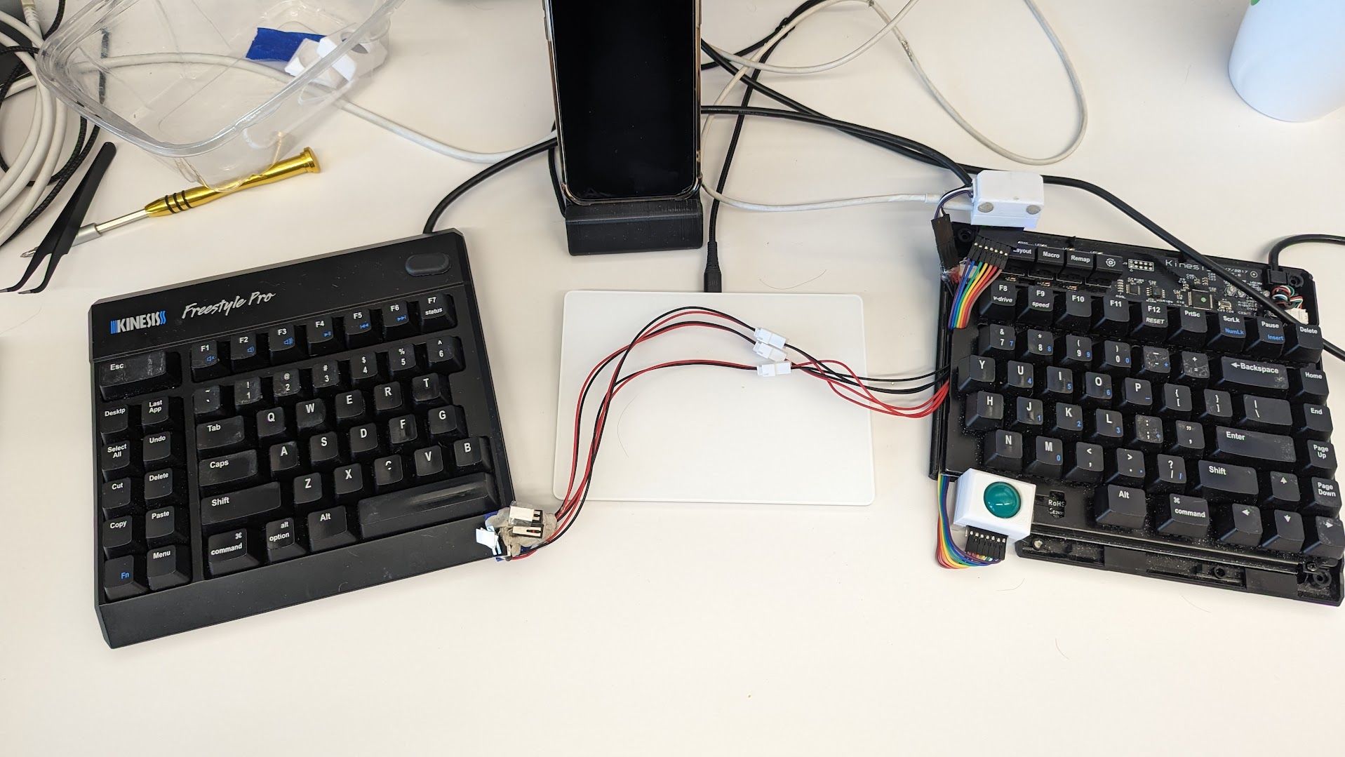
<path fill-rule="evenodd" d="M 412 489 L 359 500 L 359 530 L 363 538 L 386 536 L 449 520 L 486 515 L 495 504 L 495 479 L 473 473 Z"/>

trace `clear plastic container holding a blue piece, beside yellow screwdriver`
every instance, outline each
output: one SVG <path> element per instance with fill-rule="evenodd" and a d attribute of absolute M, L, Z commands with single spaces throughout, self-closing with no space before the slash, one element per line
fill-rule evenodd
<path fill-rule="evenodd" d="M 356 82 L 324 74 L 386 36 L 402 0 L 94 0 L 39 56 L 63 102 L 159 156 L 188 180 L 227 191 L 304 148 L 305 128 Z M 343 43 L 299 77 L 246 59 L 258 27 Z"/>

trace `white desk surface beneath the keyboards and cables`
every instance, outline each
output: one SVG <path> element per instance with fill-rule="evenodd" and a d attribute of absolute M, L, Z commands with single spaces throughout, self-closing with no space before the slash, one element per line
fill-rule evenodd
<path fill-rule="evenodd" d="M 706 0 L 705 36 L 740 46 L 794 4 Z M 1329 180 L 1345 165 L 1345 112 L 1280 124 L 1228 83 L 1245 0 L 1041 5 L 1092 108 L 1083 148 L 1052 171 L 1118 192 L 1210 254 L 1262 260 L 1282 235 L 1345 230 L 1345 188 Z M 827 59 L 874 28 L 862 9 L 824 13 L 779 61 Z M 1015 0 L 925 3 L 904 28 L 989 133 L 1037 153 L 1068 137 L 1064 77 Z M 391 42 L 387 69 L 356 98 L 363 105 L 482 149 L 523 144 L 550 124 L 537 0 L 410 0 Z M 722 81 L 707 75 L 706 90 Z M 829 114 L 1005 164 L 950 122 L 894 42 L 841 71 L 767 81 Z M 1034 86 L 1040 94 L 1022 97 Z M 706 145 L 712 175 L 726 132 Z M 340 113 L 312 144 L 321 176 L 122 231 L 67 258 L 44 296 L 0 297 L 0 753 L 1338 748 L 1342 610 L 1032 561 L 940 570 L 929 428 L 886 418 L 874 421 L 870 507 L 596 503 L 523 563 L 479 562 L 108 649 L 89 565 L 89 304 L 414 234 L 440 195 L 479 168 Z M 90 218 L 180 184 L 124 149 Z M 948 186 L 855 140 L 760 121 L 746 126 L 730 182 L 763 200 Z M 1050 190 L 1049 200 L 1045 231 L 1151 241 L 1089 198 Z M 0 278 L 17 276 L 17 251 L 51 219 L 4 250 Z M 858 293 L 872 370 L 929 364 L 927 210 L 726 210 L 721 221 L 726 288 Z M 445 225 L 467 234 L 472 253 L 516 488 L 547 497 L 565 292 L 694 290 L 703 255 L 569 257 L 539 160 L 473 191 Z M 1340 254 L 1290 253 L 1323 284 L 1336 335 L 1345 333 L 1333 301 L 1345 293 L 1332 276 Z M 1345 386 L 1338 363 L 1328 371 Z M 620 538 L 627 531 L 643 538 Z"/>

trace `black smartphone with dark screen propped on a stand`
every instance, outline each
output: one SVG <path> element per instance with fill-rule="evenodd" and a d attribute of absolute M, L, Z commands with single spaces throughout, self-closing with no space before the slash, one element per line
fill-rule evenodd
<path fill-rule="evenodd" d="M 547 0 L 570 200 L 667 199 L 699 182 L 699 0 Z"/>

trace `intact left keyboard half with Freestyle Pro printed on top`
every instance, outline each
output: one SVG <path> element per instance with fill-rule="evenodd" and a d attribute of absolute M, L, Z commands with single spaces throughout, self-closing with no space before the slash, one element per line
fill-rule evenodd
<path fill-rule="evenodd" d="M 491 557 L 512 487 L 456 231 L 89 317 L 109 645 Z"/>

